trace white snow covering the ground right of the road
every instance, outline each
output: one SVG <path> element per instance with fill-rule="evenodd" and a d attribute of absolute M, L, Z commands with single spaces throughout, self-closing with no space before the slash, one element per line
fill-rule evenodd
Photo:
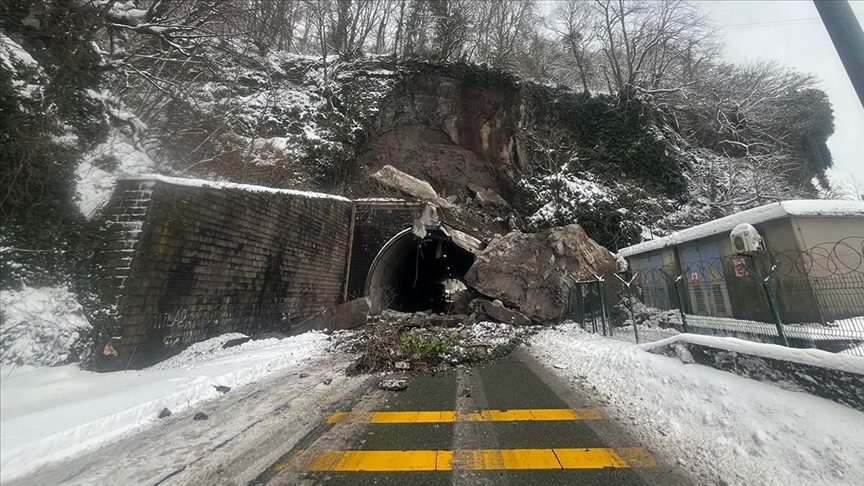
<path fill-rule="evenodd" d="M 570 382 L 595 389 L 608 416 L 629 421 L 637 439 L 702 484 L 864 484 L 862 412 L 651 354 L 574 324 L 543 331 L 531 344 L 529 352 Z M 864 360 L 845 358 L 864 369 Z"/>

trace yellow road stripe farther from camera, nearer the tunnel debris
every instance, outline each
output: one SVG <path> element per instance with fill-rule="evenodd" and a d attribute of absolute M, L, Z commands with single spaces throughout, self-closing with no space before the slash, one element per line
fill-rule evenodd
<path fill-rule="evenodd" d="M 417 424 L 446 422 L 517 422 L 526 420 L 599 420 L 593 408 L 546 408 L 526 410 L 479 410 L 472 413 L 450 411 L 335 412 L 326 422 L 368 422 L 374 424 Z"/>

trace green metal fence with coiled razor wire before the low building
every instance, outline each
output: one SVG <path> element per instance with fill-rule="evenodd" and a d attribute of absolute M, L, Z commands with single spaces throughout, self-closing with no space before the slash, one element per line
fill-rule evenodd
<path fill-rule="evenodd" d="M 584 329 L 604 332 L 602 314 L 637 342 L 690 332 L 864 356 L 864 238 L 573 279 L 568 304 Z"/>

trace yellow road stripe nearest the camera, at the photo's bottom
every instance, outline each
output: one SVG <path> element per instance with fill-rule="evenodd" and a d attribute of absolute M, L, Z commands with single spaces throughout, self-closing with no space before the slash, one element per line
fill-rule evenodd
<path fill-rule="evenodd" d="M 479 449 L 459 451 L 325 451 L 310 471 L 449 471 L 657 467 L 641 447 L 619 449 Z"/>

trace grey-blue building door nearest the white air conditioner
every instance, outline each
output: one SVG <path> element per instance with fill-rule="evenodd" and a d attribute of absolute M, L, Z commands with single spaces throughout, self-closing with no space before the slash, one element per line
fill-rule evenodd
<path fill-rule="evenodd" d="M 690 296 L 690 311 L 703 316 L 732 317 L 717 242 L 682 248 L 681 260 Z"/>

